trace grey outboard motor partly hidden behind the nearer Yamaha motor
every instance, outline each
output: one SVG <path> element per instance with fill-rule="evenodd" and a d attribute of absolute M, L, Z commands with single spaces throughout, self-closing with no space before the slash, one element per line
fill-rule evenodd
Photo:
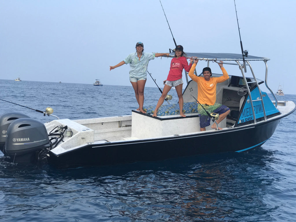
<path fill-rule="evenodd" d="M 6 141 L 6 131 L 8 129 L 8 126 L 10 123 L 12 123 L 13 121 L 19 118 L 30 118 L 30 117 L 20 112 L 5 112 L 0 116 L 0 149 L 2 152 L 4 151 L 3 148 Z"/>

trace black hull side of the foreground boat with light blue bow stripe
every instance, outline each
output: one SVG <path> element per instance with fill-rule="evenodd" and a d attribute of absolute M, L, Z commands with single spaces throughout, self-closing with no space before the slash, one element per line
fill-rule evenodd
<path fill-rule="evenodd" d="M 244 152 L 260 147 L 274 133 L 280 118 L 239 128 L 175 137 L 88 144 L 56 155 L 49 152 L 49 163 L 63 166 L 105 166 L 179 157 Z"/>

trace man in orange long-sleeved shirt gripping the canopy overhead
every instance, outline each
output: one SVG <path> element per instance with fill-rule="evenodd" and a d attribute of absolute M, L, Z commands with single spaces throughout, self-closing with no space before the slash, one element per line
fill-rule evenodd
<path fill-rule="evenodd" d="M 197 82 L 197 101 L 202 104 L 202 106 L 209 112 L 214 112 L 219 114 L 219 119 L 216 120 L 217 124 L 220 123 L 230 112 L 230 109 L 227 106 L 219 104 L 216 102 L 216 86 L 217 83 L 221 83 L 229 79 L 229 76 L 223 67 L 223 62 L 220 61 L 218 65 L 220 66 L 223 76 L 221 77 L 210 77 L 212 75 L 212 71 L 209 67 L 205 67 L 202 70 L 202 76 L 194 75 L 194 69 L 198 59 L 194 59 L 194 64 L 192 65 L 189 76 L 193 81 Z M 198 104 L 197 110 L 200 116 L 200 131 L 205 131 L 206 126 L 210 126 L 211 119 L 202 108 L 202 106 Z M 211 128 L 216 129 L 216 123 L 213 123 Z M 218 127 L 218 129 L 222 129 Z"/>

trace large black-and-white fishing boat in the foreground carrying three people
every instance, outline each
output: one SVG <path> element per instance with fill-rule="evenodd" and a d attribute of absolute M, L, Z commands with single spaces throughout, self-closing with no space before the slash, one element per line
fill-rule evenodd
<path fill-rule="evenodd" d="M 147 113 L 131 110 L 131 115 L 80 120 L 57 118 L 45 124 L 22 113 L 7 112 L 0 118 L 1 151 L 14 162 L 46 161 L 56 167 L 106 166 L 247 152 L 270 139 L 280 120 L 295 111 L 294 102 L 278 101 L 268 87 L 268 58 L 249 55 L 243 62 L 242 54 L 187 55 L 200 59 L 199 64 L 222 60 L 226 70 L 227 66 L 238 67 L 237 71 L 228 72 L 228 81 L 217 85 L 217 102 L 231 110 L 219 123 L 221 130 L 208 126 L 206 131 L 200 131 L 197 102 L 193 98 L 197 98 L 197 83 L 188 80 L 186 73 L 185 118 L 179 115 L 178 104 L 163 104 L 157 117 L 152 116 L 154 104 L 146 107 Z M 169 57 L 173 56 L 171 53 Z M 266 67 L 265 82 L 257 79 L 252 69 L 251 63 L 258 62 Z M 213 76 L 221 74 L 213 73 Z M 263 83 L 273 100 L 261 91 Z M 52 115 L 48 111 L 45 114 Z M 214 116 L 211 119 L 215 121 Z"/>

